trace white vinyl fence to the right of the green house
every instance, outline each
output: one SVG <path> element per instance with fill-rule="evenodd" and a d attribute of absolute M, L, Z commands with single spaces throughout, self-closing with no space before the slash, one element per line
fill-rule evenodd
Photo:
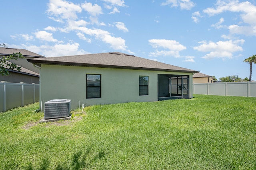
<path fill-rule="evenodd" d="M 193 83 L 193 94 L 256 97 L 256 82 Z"/>

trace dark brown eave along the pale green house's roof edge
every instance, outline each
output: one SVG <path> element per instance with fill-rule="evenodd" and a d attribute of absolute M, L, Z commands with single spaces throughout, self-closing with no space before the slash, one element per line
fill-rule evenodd
<path fill-rule="evenodd" d="M 121 69 L 132 69 L 132 70 L 151 70 L 151 71 L 172 71 L 172 72 L 188 72 L 197 73 L 195 70 L 172 70 L 162 68 L 147 68 L 147 67 L 134 67 L 134 66 L 116 66 L 116 65 L 105 65 L 105 64 L 84 64 L 84 63 L 70 63 L 63 61 L 36 61 L 33 59 L 27 59 L 28 62 L 41 66 L 41 64 L 51 65 L 66 65 L 66 66 L 88 66 L 88 67 L 100 67 L 100 68 L 121 68 Z"/>

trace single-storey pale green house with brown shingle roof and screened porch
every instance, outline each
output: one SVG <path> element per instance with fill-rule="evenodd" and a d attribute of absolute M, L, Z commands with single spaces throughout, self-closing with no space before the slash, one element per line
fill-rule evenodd
<path fill-rule="evenodd" d="M 28 61 L 40 67 L 42 102 L 71 99 L 71 109 L 192 98 L 192 75 L 198 72 L 119 52 Z"/>

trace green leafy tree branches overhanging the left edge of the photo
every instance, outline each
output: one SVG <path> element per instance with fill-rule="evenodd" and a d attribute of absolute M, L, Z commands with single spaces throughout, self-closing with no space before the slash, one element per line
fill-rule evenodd
<path fill-rule="evenodd" d="M 0 46 L 7 47 L 5 44 L 0 44 Z M 23 58 L 23 55 L 21 53 L 13 53 L 13 54 L 10 54 L 9 56 L 4 56 L 0 58 L 0 74 L 2 74 L 2 76 L 8 76 L 10 74 L 8 70 L 20 71 L 21 67 L 17 66 L 14 63 L 8 62 L 8 60 L 12 60 L 12 59 L 18 60 L 22 58 Z"/>

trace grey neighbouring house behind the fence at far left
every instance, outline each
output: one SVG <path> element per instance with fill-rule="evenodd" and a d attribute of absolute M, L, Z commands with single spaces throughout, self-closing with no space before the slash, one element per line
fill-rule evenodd
<path fill-rule="evenodd" d="M 27 59 L 34 59 L 34 58 L 44 58 L 44 56 L 33 53 L 31 51 L 25 49 L 13 49 L 13 48 L 6 48 L 0 47 L 0 57 L 9 56 L 13 53 L 21 53 L 24 58 L 16 60 L 9 60 L 8 63 L 14 63 L 17 66 L 20 66 L 20 71 L 18 70 L 8 70 L 10 75 L 2 76 L 0 75 L 0 81 L 6 82 L 13 82 L 13 83 L 36 83 L 39 84 L 39 69 L 35 68 L 32 63 L 29 63 Z"/>

